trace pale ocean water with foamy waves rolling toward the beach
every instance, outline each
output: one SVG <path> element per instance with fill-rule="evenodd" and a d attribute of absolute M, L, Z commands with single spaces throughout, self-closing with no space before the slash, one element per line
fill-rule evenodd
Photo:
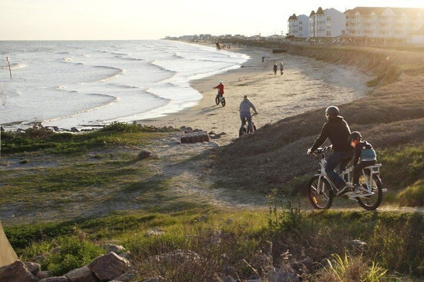
<path fill-rule="evenodd" d="M 190 80 L 248 58 L 169 40 L 0 41 L 0 124 L 81 129 L 163 116 L 202 98 Z"/>

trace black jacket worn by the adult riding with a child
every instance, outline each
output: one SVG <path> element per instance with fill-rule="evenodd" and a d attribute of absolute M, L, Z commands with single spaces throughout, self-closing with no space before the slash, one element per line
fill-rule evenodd
<path fill-rule="evenodd" d="M 321 129 L 321 133 L 315 142 L 313 142 L 310 150 L 313 152 L 325 142 L 325 140 L 330 139 L 332 144 L 332 149 L 334 151 L 350 151 L 353 148 L 350 146 L 349 141 L 347 140 L 350 135 L 350 129 L 347 125 L 347 122 L 343 119 L 342 116 L 329 117 L 328 121 L 324 123 Z"/>

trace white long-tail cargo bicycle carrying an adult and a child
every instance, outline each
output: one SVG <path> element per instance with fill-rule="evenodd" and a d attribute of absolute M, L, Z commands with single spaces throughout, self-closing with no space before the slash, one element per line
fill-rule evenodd
<path fill-rule="evenodd" d="M 331 182 L 325 173 L 325 153 L 329 147 L 317 148 L 312 154 L 318 160 L 320 169 L 318 174 L 312 176 L 307 185 L 307 196 L 312 207 L 318 210 L 329 209 L 332 205 L 333 197 L 337 196 L 338 189 Z M 350 190 L 345 191 L 340 196 L 344 199 L 356 201 L 359 206 L 365 210 L 375 210 L 381 204 L 382 193 L 387 192 L 387 189 L 382 188 L 380 179 L 381 164 L 367 166 L 362 169 L 359 176 L 359 185 L 361 186 L 361 193 L 356 194 L 353 192 L 353 186 Z M 341 172 L 340 177 L 351 184 L 353 167 L 347 168 Z"/>

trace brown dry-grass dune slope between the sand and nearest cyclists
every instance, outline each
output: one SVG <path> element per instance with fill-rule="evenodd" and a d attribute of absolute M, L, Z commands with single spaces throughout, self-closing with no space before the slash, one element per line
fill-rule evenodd
<path fill-rule="evenodd" d="M 338 105 L 350 129 L 360 131 L 377 150 L 424 141 L 424 54 L 374 48 L 296 48 L 291 53 L 366 69 L 379 87 L 366 97 Z M 386 59 L 389 56 L 389 60 Z M 210 167 L 235 183 L 259 191 L 301 189 L 316 169 L 306 150 L 325 122 L 324 108 L 261 127 L 217 149 Z M 248 164 L 248 165 L 246 165 Z M 247 176 L 247 177 L 246 177 Z M 389 188 L 390 183 L 387 183 Z"/>

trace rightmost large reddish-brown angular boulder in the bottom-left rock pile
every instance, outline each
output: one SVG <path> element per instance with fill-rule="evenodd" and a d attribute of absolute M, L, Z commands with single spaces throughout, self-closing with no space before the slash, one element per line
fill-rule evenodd
<path fill-rule="evenodd" d="M 129 262 L 110 252 L 96 258 L 87 267 L 99 280 L 109 281 L 127 272 L 129 270 Z"/>

